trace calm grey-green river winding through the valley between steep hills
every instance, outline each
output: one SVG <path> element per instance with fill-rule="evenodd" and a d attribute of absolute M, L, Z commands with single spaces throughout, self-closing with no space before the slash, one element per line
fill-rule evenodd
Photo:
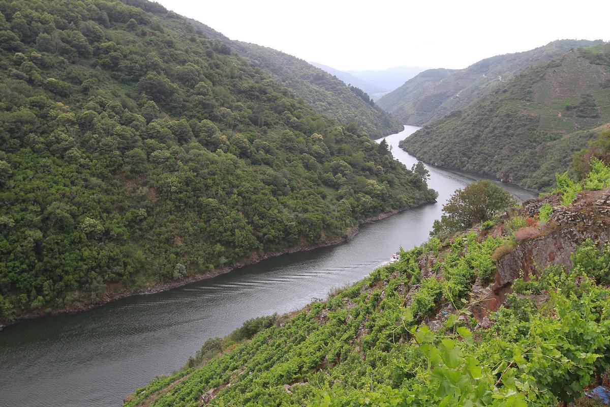
<path fill-rule="evenodd" d="M 394 156 L 417 160 L 389 135 Z M 479 176 L 428 167 L 439 192 L 426 204 L 363 225 L 350 242 L 287 254 L 167 292 L 125 298 L 80 314 L 17 323 L 0 331 L 0 406 L 120 406 L 156 375 L 185 364 L 203 342 L 245 320 L 293 311 L 368 275 L 402 245 L 424 242 L 443 203 Z M 520 200 L 533 193 L 499 185 Z"/>

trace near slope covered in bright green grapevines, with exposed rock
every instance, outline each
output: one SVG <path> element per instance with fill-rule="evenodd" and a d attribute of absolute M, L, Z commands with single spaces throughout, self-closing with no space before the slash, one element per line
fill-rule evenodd
<path fill-rule="evenodd" d="M 609 203 L 551 195 L 401 251 L 326 301 L 207 340 L 125 407 L 568 405 L 610 366 Z"/>

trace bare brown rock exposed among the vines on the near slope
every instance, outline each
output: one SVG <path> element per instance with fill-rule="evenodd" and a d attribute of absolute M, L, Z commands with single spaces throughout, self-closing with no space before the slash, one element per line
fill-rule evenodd
<path fill-rule="evenodd" d="M 585 240 L 594 240 L 600 248 L 610 241 L 610 189 L 583 191 L 567 206 L 561 205 L 561 197 L 557 195 L 534 198 L 526 201 L 516 211 L 518 215 L 531 218 L 530 220 L 535 223 L 534 218 L 545 203 L 553 207 L 553 214 L 548 222 L 543 225 L 526 226 L 516 231 L 515 236 L 522 238 L 516 239 L 512 247 L 504 245 L 499 248 L 502 250 L 497 250 L 501 253 L 501 257 L 498 256 L 500 258 L 496 262 L 497 273 L 492 284 L 483 284 L 478 279 L 474 282 L 467 310 L 479 321 L 478 328 L 489 328 L 492 325 L 487 315 L 504 303 L 506 294 L 512 292 L 512 283 L 515 279 L 535 278 L 551 265 L 560 265 L 567 270 L 572 266 L 570 260 L 572 253 Z M 505 215 L 500 225 L 491 232 L 475 230 L 481 237 L 488 234 L 506 235 L 502 222 L 508 219 L 509 215 Z M 535 229 L 536 233 L 531 233 L 530 229 Z M 520 234 L 520 231 L 527 233 Z M 436 261 L 438 260 L 434 253 L 425 253 L 418 258 L 418 266 L 423 278 L 431 275 L 432 266 Z M 411 288 L 416 289 L 417 286 Z M 535 303 L 540 303 L 540 298 L 531 299 Z M 406 294 L 404 302 L 411 303 L 411 292 Z M 437 309 L 437 314 L 428 320 L 428 326 L 432 330 L 438 329 L 452 312 L 456 312 L 456 309 L 451 305 Z"/>

